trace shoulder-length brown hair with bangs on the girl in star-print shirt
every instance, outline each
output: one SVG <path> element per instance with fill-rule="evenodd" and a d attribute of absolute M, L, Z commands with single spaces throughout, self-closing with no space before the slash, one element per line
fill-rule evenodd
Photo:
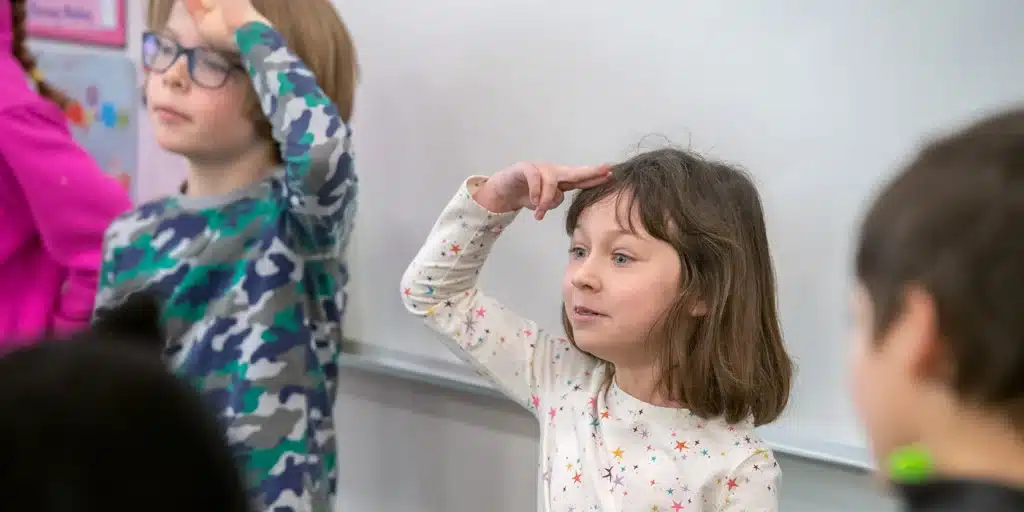
<path fill-rule="evenodd" d="M 679 254 L 679 296 L 651 333 L 670 397 L 702 418 L 757 425 L 785 409 L 793 362 L 782 344 L 775 273 L 757 187 L 742 171 L 665 148 L 612 168 L 612 179 L 572 200 L 572 234 L 591 205 L 617 195 L 651 237 Z M 707 313 L 692 314 L 697 302 Z M 562 324 L 572 328 L 562 310 Z"/>

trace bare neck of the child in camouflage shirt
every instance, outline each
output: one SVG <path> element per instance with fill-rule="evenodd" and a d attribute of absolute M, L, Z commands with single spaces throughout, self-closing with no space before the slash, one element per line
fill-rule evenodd
<path fill-rule="evenodd" d="M 266 177 L 274 167 L 272 144 L 227 158 L 188 158 L 188 196 L 223 196 Z"/>

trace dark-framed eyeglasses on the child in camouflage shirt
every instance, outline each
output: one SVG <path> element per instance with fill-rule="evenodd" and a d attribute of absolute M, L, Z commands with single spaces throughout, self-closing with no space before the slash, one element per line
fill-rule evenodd
<path fill-rule="evenodd" d="M 185 48 L 177 41 L 155 32 L 142 34 L 142 66 L 156 73 L 171 69 L 181 55 L 188 65 L 191 81 L 206 89 L 218 89 L 227 83 L 231 73 L 245 70 L 221 53 L 208 48 Z"/>

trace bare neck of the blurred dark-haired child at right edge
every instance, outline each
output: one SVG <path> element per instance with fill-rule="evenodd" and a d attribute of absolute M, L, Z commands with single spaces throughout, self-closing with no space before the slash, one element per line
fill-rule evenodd
<path fill-rule="evenodd" d="M 944 409 L 944 417 L 929 422 L 922 437 L 936 472 L 1024 488 L 1024 433 L 991 414 Z"/>

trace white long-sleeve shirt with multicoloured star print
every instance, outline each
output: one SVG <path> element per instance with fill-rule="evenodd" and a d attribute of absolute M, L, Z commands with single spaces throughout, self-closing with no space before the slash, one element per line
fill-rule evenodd
<path fill-rule="evenodd" d="M 545 512 L 754 512 L 778 508 L 778 464 L 753 423 L 729 425 L 645 403 L 608 365 L 506 309 L 476 287 L 515 213 L 472 199 L 466 180 L 402 278 L 407 308 L 541 425 Z"/>

